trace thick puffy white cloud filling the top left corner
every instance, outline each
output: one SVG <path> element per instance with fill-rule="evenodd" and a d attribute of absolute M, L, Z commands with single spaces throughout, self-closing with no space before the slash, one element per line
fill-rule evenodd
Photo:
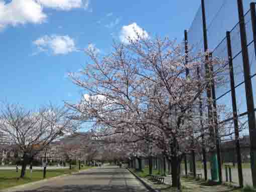
<path fill-rule="evenodd" d="M 46 18 L 43 8 L 34 0 L 13 0 L 8 4 L 0 0 L 0 29 L 9 25 L 40 24 Z"/>

